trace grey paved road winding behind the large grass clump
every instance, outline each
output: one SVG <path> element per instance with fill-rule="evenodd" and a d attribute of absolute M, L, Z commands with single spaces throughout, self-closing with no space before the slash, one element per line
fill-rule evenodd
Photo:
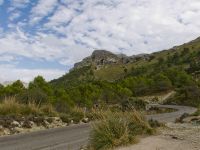
<path fill-rule="evenodd" d="M 162 122 L 171 122 L 184 113 L 193 113 L 195 108 L 187 106 L 156 105 L 178 111 L 147 116 Z M 89 124 L 49 129 L 27 134 L 0 137 L 0 150 L 78 150 L 88 141 Z"/>

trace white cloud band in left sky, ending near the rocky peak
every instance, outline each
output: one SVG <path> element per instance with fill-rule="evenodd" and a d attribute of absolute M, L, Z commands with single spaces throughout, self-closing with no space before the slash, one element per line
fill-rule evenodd
<path fill-rule="evenodd" d="M 71 63 L 80 61 L 84 55 L 89 55 L 90 53 L 84 47 L 75 46 L 68 38 L 58 38 L 56 35 L 44 33 L 38 33 L 37 36 L 32 37 L 19 28 L 16 29 L 15 33 L 6 33 L 3 37 L 0 37 L 0 45 L 0 54 L 9 53 L 32 59 L 42 58 L 45 60 L 68 57 L 68 61 Z"/>

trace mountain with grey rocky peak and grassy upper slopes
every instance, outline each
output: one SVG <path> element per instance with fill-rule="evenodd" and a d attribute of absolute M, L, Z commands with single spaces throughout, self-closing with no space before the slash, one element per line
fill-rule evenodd
<path fill-rule="evenodd" d="M 125 54 L 114 54 L 107 50 L 95 50 L 91 56 L 76 63 L 69 73 L 51 81 L 51 83 L 67 85 L 73 81 L 116 81 L 131 74 L 135 68 L 146 67 L 146 72 L 150 72 L 154 65 L 162 63 L 162 61 L 166 65 L 181 66 L 187 69 L 192 62 L 195 63 L 194 61 L 199 59 L 196 54 L 199 51 L 200 38 L 152 54 L 126 56 Z M 161 64 L 158 64 L 159 66 Z"/>

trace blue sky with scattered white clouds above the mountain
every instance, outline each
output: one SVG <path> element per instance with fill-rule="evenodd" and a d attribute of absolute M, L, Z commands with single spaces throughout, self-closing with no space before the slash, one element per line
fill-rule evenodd
<path fill-rule="evenodd" d="M 200 0 L 0 0 L 0 82 L 46 80 L 94 49 L 135 55 L 200 36 Z"/>

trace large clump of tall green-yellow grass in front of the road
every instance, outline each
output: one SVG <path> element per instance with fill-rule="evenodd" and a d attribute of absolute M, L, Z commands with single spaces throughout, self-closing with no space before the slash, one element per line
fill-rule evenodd
<path fill-rule="evenodd" d="M 90 149 L 106 150 L 137 142 L 137 136 L 152 134 L 153 129 L 137 111 L 104 112 L 92 125 Z"/>

